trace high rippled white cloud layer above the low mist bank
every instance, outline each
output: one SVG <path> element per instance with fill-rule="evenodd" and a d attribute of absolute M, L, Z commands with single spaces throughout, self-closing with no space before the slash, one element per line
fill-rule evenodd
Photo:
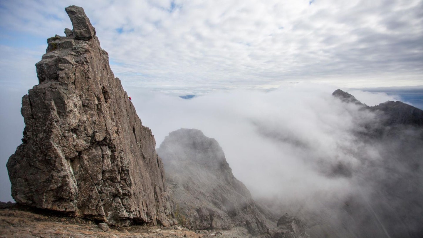
<path fill-rule="evenodd" d="M 71 28 L 63 8 L 82 6 L 115 75 L 128 86 L 421 84 L 423 1 L 312 2 L 9 1 L 2 2 L 0 26 L 45 38 L 63 35 Z"/>

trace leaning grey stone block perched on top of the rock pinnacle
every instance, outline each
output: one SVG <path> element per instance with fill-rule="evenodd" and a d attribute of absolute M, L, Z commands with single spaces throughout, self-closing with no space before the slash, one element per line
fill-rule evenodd
<path fill-rule="evenodd" d="M 96 29 L 91 25 L 90 19 L 85 15 L 84 8 L 69 6 L 65 8 L 74 27 L 73 34 L 78 40 L 92 39 L 96 34 Z M 67 36 L 67 35 L 66 35 Z"/>

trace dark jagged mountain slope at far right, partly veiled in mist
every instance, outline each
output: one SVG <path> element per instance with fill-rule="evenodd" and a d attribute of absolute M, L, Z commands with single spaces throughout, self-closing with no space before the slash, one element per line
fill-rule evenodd
<path fill-rule="evenodd" d="M 353 132 L 356 145 L 361 146 L 349 153 L 358 163 L 355 168 L 343 167 L 359 189 L 338 205 L 334 202 L 332 208 L 326 209 L 336 210 L 339 221 L 336 224 L 327 224 L 322 216 L 300 216 L 320 224 L 308 230 L 309 234 L 314 237 L 422 237 L 423 111 L 399 101 L 370 107 L 339 89 L 332 95 L 361 107 L 359 111 L 351 111 L 361 114 L 356 117 L 357 121 L 363 115 L 371 115 L 357 123 L 362 128 L 355 128 Z"/>

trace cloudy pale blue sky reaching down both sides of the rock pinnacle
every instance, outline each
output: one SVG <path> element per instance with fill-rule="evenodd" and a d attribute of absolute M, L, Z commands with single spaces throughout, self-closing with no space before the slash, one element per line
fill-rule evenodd
<path fill-rule="evenodd" d="M 147 126 L 148 115 L 172 115 L 145 108 L 185 94 L 203 95 L 202 107 L 213 110 L 250 97 L 231 91 L 325 86 L 354 89 L 371 105 L 401 97 L 360 89 L 423 89 L 422 0 L 0 0 L 1 201 L 11 199 L 4 165 L 22 138 L 21 98 L 38 84 L 34 64 L 47 38 L 72 28 L 69 5 L 85 9 Z M 157 144 L 186 125 L 153 122 Z"/>

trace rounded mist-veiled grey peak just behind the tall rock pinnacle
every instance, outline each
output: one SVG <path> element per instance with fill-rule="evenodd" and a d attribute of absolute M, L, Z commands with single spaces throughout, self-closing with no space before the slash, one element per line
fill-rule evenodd
<path fill-rule="evenodd" d="M 157 149 L 163 159 L 176 218 L 190 229 L 245 227 L 268 231 L 250 192 L 237 180 L 216 140 L 200 130 L 180 129 Z"/>

